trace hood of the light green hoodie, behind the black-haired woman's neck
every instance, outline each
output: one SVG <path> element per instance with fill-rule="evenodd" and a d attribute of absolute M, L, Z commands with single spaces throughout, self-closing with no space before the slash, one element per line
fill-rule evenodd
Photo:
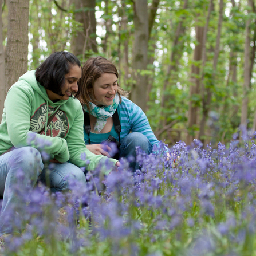
<path fill-rule="evenodd" d="M 53 102 L 52 100 L 49 99 L 44 86 L 42 86 L 39 82 L 37 82 L 35 73 L 36 73 L 36 70 L 28 71 L 27 73 L 19 77 L 19 81 L 26 81 L 28 84 L 30 84 L 31 87 L 34 90 L 36 90 L 36 92 L 40 94 L 40 96 L 46 101 L 46 103 L 53 106 L 65 104 L 66 100 L 59 100 L 59 101 Z"/>

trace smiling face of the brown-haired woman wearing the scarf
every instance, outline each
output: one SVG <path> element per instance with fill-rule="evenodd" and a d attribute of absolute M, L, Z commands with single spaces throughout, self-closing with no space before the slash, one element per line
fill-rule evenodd
<path fill-rule="evenodd" d="M 117 77 L 113 73 L 103 73 L 101 77 L 94 81 L 93 93 L 89 90 L 90 97 L 97 106 L 109 106 L 113 103 L 113 100 L 117 92 Z M 94 99 L 95 97 L 95 99 Z"/>

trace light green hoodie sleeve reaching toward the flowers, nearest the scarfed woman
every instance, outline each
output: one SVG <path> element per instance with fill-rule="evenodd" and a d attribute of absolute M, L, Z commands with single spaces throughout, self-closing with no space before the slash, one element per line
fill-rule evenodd
<path fill-rule="evenodd" d="M 107 162 L 109 162 L 109 168 L 113 167 L 117 162 L 116 159 L 108 159 L 107 156 L 95 155 L 86 148 L 83 127 L 84 115 L 82 113 L 82 106 L 80 103 L 74 115 L 73 124 L 69 128 L 69 133 L 66 137 L 70 154 L 70 162 L 78 167 L 85 167 L 88 171 L 94 170 L 101 160 L 107 160 Z M 105 168 L 108 167 L 105 166 Z"/>

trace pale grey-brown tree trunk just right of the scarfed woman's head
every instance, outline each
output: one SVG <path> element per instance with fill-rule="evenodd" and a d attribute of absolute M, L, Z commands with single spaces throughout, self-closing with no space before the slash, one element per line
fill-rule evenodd
<path fill-rule="evenodd" d="M 131 100 L 145 111 L 147 76 L 143 74 L 147 70 L 148 61 L 148 6 L 147 0 L 134 0 L 134 43 L 133 43 L 133 80 Z"/>

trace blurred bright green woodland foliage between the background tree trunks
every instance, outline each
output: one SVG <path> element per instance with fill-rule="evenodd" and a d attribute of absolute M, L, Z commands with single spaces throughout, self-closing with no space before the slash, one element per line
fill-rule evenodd
<path fill-rule="evenodd" d="M 148 1 L 150 8 L 152 1 Z M 183 8 L 184 0 L 160 1 L 155 23 L 148 41 L 147 70 L 140 71 L 148 77 L 148 109 L 147 116 L 153 131 L 157 132 L 163 125 L 175 122 L 175 127 L 183 131 L 187 129 L 188 103 L 198 107 L 198 122 L 202 111 L 202 92 L 190 96 L 191 67 L 200 69 L 194 78 L 201 80 L 204 76 L 204 86 L 210 88 L 212 97 L 210 109 L 219 113 L 218 132 L 207 127 L 209 133 L 215 133 L 216 141 L 229 141 L 233 132 L 239 127 L 240 109 L 242 103 L 243 85 L 243 52 L 245 42 L 245 25 L 251 19 L 251 39 L 255 30 L 256 14 L 251 11 L 246 0 L 235 2 L 224 1 L 222 34 L 218 65 L 213 74 L 213 58 L 216 47 L 216 34 L 219 19 L 219 1 L 214 0 L 214 10 L 211 12 L 206 38 L 206 66 L 202 73 L 202 60 L 194 60 L 196 27 L 206 25 L 208 0 L 188 0 Z M 62 3 L 64 5 L 64 2 Z M 63 12 L 53 1 L 30 1 L 30 55 L 29 69 L 36 68 L 42 60 L 55 50 L 70 50 L 72 37 L 81 31 L 81 23 L 74 21 L 76 11 L 74 6 L 66 4 Z M 3 15 L 6 15 L 6 10 Z M 101 56 L 111 60 L 120 73 L 119 84 L 125 89 L 131 89 L 134 84 L 132 74 L 133 47 L 133 1 L 96 1 L 97 42 Z M 182 22 L 182 23 L 180 23 Z M 180 26 L 181 24 L 181 26 Z M 108 26 L 108 31 L 106 29 Z M 177 29 L 180 26 L 178 44 L 175 44 Z M 4 30 L 5 31 L 5 30 Z M 5 37 L 4 37 L 5 38 Z M 33 48 L 33 49 L 32 49 Z M 87 52 L 86 56 L 93 56 Z M 79 54 L 78 54 L 79 57 Z M 236 78 L 233 81 L 231 65 L 236 66 Z M 168 73 L 168 70 L 171 72 Z M 249 128 L 254 119 L 255 81 L 253 67 L 251 92 L 249 94 Z M 202 86 L 202 84 L 200 84 Z M 165 88 L 165 89 L 164 89 Z M 163 103 L 163 100 L 164 103 Z M 160 125 L 159 125 L 160 124 Z M 199 124 L 199 123 L 198 123 Z M 197 134 L 198 124 L 188 129 Z M 174 127 L 172 127 L 174 128 Z M 175 132 L 174 132 L 175 133 Z M 167 133 L 160 136 L 166 139 Z M 182 136 L 182 137 L 179 137 Z M 186 132 L 175 135 L 177 140 L 186 141 Z M 211 140 L 207 137 L 207 140 Z M 168 139 L 167 139 L 168 140 Z M 173 141 L 167 141 L 173 143 Z"/>

